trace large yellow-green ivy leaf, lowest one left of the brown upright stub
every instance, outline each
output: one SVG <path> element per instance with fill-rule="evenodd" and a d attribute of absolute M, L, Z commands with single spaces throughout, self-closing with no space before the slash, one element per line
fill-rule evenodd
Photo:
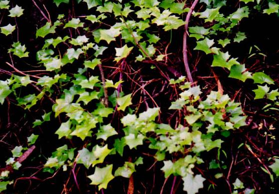
<path fill-rule="evenodd" d="M 92 181 L 90 184 L 99 185 L 99 190 L 101 188 L 107 188 L 108 183 L 114 178 L 112 175 L 112 164 L 103 168 L 96 167 L 94 174 L 87 177 Z"/>

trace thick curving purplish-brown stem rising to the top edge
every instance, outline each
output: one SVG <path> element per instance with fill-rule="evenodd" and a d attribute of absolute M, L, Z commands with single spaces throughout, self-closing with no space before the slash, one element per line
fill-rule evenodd
<path fill-rule="evenodd" d="M 192 15 L 192 12 L 197 3 L 198 3 L 198 0 L 194 0 L 192 6 L 190 7 L 189 12 L 187 13 L 187 16 L 185 19 L 185 31 L 184 31 L 184 35 L 183 35 L 183 62 L 184 62 L 188 80 L 191 83 L 193 83 L 194 81 L 193 81 L 192 74 L 191 74 L 191 71 L 189 68 L 188 57 L 187 57 L 187 32 L 188 32 L 188 24 L 189 24 L 190 17 Z"/>

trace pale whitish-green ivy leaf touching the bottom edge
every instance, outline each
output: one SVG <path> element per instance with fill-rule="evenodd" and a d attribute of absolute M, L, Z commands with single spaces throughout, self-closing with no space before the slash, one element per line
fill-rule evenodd
<path fill-rule="evenodd" d="M 182 178 L 183 190 L 187 191 L 188 194 L 195 194 L 200 188 L 203 188 L 203 181 L 205 180 L 200 174 L 193 175 L 187 173 L 186 176 Z"/>

